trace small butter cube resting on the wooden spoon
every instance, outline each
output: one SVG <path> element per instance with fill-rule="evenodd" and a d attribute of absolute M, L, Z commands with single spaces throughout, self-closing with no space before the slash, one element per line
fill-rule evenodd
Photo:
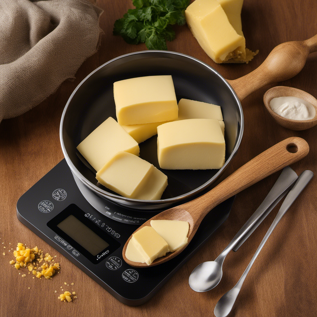
<path fill-rule="evenodd" d="M 147 265 L 169 252 L 166 241 L 149 226 L 145 226 L 135 232 L 130 241 L 143 256 Z"/>

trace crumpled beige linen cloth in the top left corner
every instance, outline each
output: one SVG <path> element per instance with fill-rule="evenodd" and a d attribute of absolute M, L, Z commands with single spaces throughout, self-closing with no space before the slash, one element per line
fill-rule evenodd
<path fill-rule="evenodd" d="M 0 122 L 74 78 L 99 46 L 101 13 L 86 0 L 0 0 Z"/>

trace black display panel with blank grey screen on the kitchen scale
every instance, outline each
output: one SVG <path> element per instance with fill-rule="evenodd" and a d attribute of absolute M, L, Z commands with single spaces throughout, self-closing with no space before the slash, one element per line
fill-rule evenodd
<path fill-rule="evenodd" d="M 98 223 L 86 217 L 77 205 L 71 204 L 47 225 L 71 247 L 97 264 L 120 247 L 120 243 L 102 230 Z"/>

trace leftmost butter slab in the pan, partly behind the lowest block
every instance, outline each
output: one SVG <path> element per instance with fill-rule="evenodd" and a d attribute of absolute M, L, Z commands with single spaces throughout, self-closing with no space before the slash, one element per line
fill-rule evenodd
<path fill-rule="evenodd" d="M 119 151 L 135 155 L 140 152 L 138 143 L 112 117 L 94 129 L 77 146 L 77 150 L 96 171 Z"/>

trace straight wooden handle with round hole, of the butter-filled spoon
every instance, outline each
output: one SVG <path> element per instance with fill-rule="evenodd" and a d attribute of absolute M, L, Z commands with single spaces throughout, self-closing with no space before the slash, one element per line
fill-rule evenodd
<path fill-rule="evenodd" d="M 197 222 L 199 226 L 212 208 L 285 166 L 297 162 L 308 152 L 309 146 L 304 139 L 285 139 L 251 159 L 203 196 L 182 204 L 179 208 L 187 210 L 194 223 Z"/>

